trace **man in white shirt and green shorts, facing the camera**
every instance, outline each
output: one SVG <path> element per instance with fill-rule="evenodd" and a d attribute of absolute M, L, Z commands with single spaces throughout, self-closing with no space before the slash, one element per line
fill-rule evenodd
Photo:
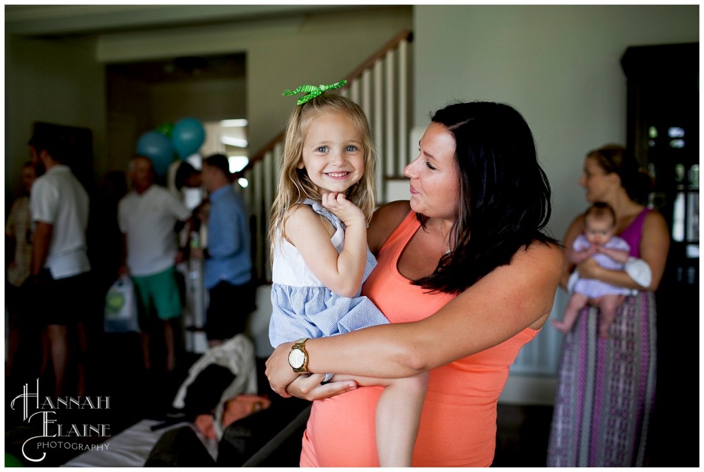
<path fill-rule="evenodd" d="M 166 346 L 166 370 L 175 367 L 176 322 L 181 317 L 181 295 L 176 264 L 183 255 L 177 234 L 191 212 L 173 193 L 154 184 L 154 167 L 141 155 L 130 160 L 132 191 L 118 204 L 125 261 L 120 273 L 129 273 L 142 302 L 140 327 L 144 368 L 151 369 L 152 326 L 161 327 Z M 156 312 L 156 319 L 152 313 Z"/>

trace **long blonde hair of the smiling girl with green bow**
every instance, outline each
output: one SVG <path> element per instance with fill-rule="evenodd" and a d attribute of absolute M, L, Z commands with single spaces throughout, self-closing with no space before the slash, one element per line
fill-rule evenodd
<path fill-rule="evenodd" d="M 281 174 L 277 186 L 276 198 L 269 217 L 269 241 L 271 257 L 277 237 L 284 238 L 284 226 L 289 217 L 289 208 L 304 198 L 320 201 L 320 193 L 310 181 L 305 168 L 298 169 L 303 159 L 303 141 L 315 118 L 325 113 L 342 112 L 362 135 L 364 151 L 364 172 L 362 178 L 346 191 L 346 197 L 357 205 L 366 215 L 367 222 L 375 209 L 374 176 L 377 152 L 372 142 L 367 116 L 357 103 L 339 94 L 325 92 L 310 99 L 303 105 L 296 106 L 291 112 L 286 127 L 284 153 L 282 155 Z"/>

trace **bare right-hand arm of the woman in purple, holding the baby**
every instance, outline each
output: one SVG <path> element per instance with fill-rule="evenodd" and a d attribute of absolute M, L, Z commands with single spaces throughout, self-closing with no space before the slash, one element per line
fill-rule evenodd
<path fill-rule="evenodd" d="M 652 273 L 648 287 L 640 286 L 623 270 L 609 270 L 600 267 L 593 259 L 579 264 L 579 276 L 586 279 L 598 279 L 615 286 L 654 291 L 660 285 L 662 273 L 665 272 L 667 253 L 670 250 L 670 231 L 667 229 L 665 218 L 660 213 L 648 212 L 646 221 L 643 223 L 640 249 L 641 259 L 648 264 Z"/>

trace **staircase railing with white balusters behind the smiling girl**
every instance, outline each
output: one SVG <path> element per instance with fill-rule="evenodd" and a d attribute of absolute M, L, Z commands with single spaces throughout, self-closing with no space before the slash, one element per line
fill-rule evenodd
<path fill-rule="evenodd" d="M 389 200 L 390 182 L 406 179 L 403 168 L 408 164 L 409 123 L 413 121 L 410 116 L 413 94 L 409 83 L 412 40 L 413 34 L 407 30 L 397 34 L 358 68 L 342 77 L 347 79 L 347 84 L 339 89 L 339 94 L 358 103 L 369 120 L 379 155 L 375 177 L 379 204 Z M 282 132 L 253 155 L 241 171 L 248 186 L 239 190 L 251 212 L 253 260 L 261 283 L 271 281 L 266 234 L 283 150 Z"/>

